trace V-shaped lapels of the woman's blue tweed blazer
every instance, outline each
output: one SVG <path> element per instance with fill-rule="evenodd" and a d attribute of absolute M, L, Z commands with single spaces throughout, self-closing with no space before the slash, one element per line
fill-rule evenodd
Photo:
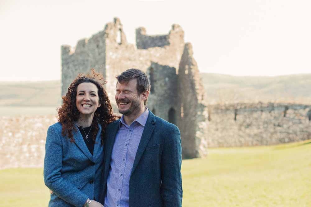
<path fill-rule="evenodd" d="M 79 128 L 77 126 L 77 124 L 75 124 L 75 129 L 76 130 L 73 130 L 72 134 L 73 134 L 73 137 L 75 138 L 75 143 L 76 145 L 80 148 L 80 150 L 86 155 L 86 157 L 91 160 L 92 162 L 95 162 L 95 157 L 96 157 L 96 154 L 98 152 L 98 149 L 100 147 L 100 134 L 101 134 L 101 125 L 98 124 L 98 132 L 97 132 L 97 135 L 96 135 L 96 139 L 95 139 L 95 145 L 94 145 L 94 151 L 93 151 L 93 155 L 91 154 L 91 152 L 89 151 L 89 149 L 87 148 L 84 140 L 83 140 L 83 137 L 79 131 Z"/>

